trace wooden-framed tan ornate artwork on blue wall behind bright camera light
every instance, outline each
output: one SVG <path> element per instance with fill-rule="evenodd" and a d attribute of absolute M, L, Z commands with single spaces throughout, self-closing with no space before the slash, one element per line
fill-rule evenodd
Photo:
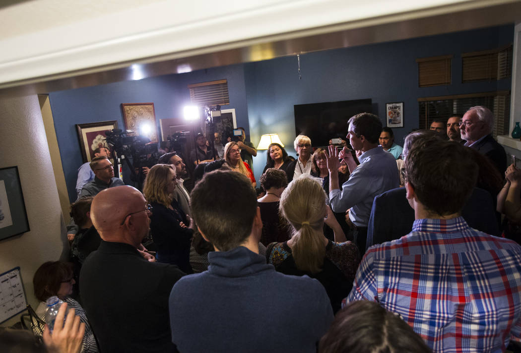
<path fill-rule="evenodd" d="M 122 103 L 121 110 L 127 130 L 150 138 L 150 142 L 159 142 L 154 103 Z"/>

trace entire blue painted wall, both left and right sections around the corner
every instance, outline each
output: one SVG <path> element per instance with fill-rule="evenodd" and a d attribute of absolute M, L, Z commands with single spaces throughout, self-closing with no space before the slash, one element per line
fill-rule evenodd
<path fill-rule="evenodd" d="M 262 134 L 276 132 L 288 153 L 295 156 L 295 104 L 371 98 L 373 111 L 383 117 L 386 103 L 404 102 L 404 127 L 394 129 L 400 143 L 418 127 L 420 97 L 510 90 L 510 79 L 461 83 L 461 53 L 510 44 L 513 33 L 514 26 L 508 25 L 303 54 L 302 80 L 292 56 L 52 92 L 49 98 L 69 197 L 76 199 L 77 168 L 81 165 L 75 124 L 117 120 L 123 127 L 121 103 L 153 102 L 159 123 L 159 119 L 182 116 L 182 108 L 190 104 L 188 84 L 227 79 L 230 105 L 222 108 L 235 108 L 237 124 L 251 135 L 253 144 L 258 144 Z M 415 60 L 449 54 L 454 56 L 452 84 L 420 89 Z M 257 180 L 265 163 L 266 152 L 259 151 L 253 162 Z"/>

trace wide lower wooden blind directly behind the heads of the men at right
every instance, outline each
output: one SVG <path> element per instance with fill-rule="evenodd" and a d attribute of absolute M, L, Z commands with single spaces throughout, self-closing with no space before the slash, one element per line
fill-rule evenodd
<path fill-rule="evenodd" d="M 420 129 L 428 129 L 432 120 L 447 120 L 453 114 L 465 114 L 474 106 L 482 105 L 494 113 L 492 135 L 507 135 L 510 118 L 510 91 L 495 91 L 452 96 L 418 98 Z"/>

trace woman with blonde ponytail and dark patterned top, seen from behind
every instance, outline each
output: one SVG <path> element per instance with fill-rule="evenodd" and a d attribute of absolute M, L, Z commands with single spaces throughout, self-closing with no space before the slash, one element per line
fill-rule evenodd
<path fill-rule="evenodd" d="M 324 222 L 335 230 L 336 239 L 343 233 L 326 206 L 324 189 L 307 175 L 288 185 L 280 197 L 279 210 L 292 226 L 292 237 L 267 247 L 268 262 L 279 272 L 316 278 L 326 288 L 333 312 L 337 312 L 351 291 L 360 262 L 356 245 L 332 242 L 324 236 Z"/>

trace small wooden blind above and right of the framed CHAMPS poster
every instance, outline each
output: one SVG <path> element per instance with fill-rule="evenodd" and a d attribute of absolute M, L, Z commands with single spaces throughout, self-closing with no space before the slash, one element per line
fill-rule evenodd
<path fill-rule="evenodd" d="M 452 55 L 416 59 L 418 86 L 430 87 L 451 84 Z"/>

